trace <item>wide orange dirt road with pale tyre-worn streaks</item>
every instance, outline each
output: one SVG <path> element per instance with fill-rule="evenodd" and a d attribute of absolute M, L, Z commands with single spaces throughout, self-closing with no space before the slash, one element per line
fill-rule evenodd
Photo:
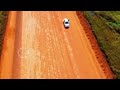
<path fill-rule="evenodd" d="M 107 78 L 76 12 L 10 12 L 0 78 Z M 65 29 L 63 19 L 70 19 Z"/>

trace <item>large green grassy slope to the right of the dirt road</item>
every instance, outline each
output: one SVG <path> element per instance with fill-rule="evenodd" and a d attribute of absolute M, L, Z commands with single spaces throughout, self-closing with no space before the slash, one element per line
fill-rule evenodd
<path fill-rule="evenodd" d="M 120 79 L 120 11 L 83 11 L 107 61 Z"/>

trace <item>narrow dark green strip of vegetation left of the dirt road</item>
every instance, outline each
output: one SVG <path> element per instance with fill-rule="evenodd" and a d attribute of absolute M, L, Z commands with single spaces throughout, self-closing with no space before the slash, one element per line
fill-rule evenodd
<path fill-rule="evenodd" d="M 2 49 L 2 41 L 3 41 L 3 36 L 5 31 L 6 18 L 7 18 L 7 12 L 0 11 L 0 54 Z"/>

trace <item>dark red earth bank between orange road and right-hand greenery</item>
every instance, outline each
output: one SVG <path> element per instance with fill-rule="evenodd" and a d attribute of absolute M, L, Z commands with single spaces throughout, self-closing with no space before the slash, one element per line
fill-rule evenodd
<path fill-rule="evenodd" d="M 101 52 L 101 49 L 96 41 L 95 35 L 92 33 L 93 30 L 91 29 L 91 25 L 89 24 L 89 22 L 83 15 L 83 12 L 77 11 L 76 14 L 79 18 L 81 25 L 83 26 L 83 29 L 86 33 L 86 36 L 88 37 L 91 47 L 92 47 L 93 51 L 95 52 L 98 63 L 100 64 L 103 72 L 106 75 L 106 78 L 107 79 L 114 78 L 114 75 L 106 61 L 105 55 Z M 90 15 L 93 16 L 94 13 L 90 12 Z"/>

